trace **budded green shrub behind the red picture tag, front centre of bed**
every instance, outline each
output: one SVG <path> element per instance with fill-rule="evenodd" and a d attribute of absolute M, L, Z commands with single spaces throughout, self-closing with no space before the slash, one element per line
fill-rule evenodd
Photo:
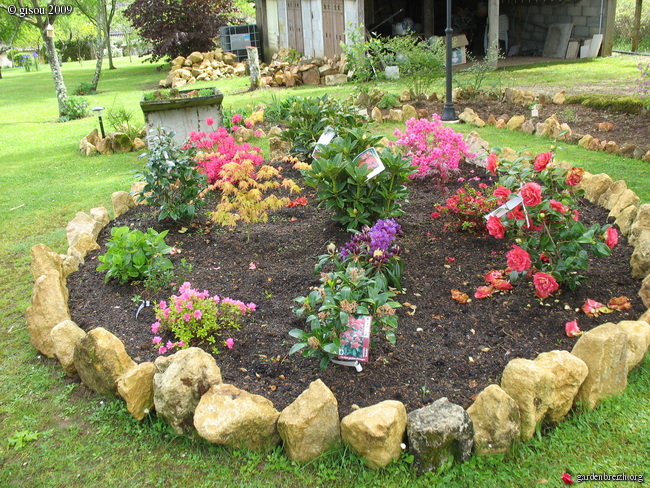
<path fill-rule="evenodd" d="M 392 299 L 394 296 L 381 274 L 371 278 L 355 266 L 324 273 L 319 288 L 295 299 L 298 306 L 293 312 L 306 319 L 310 330 L 289 332 L 299 341 L 289 354 L 302 351 L 303 356 L 320 358 L 320 367 L 325 369 L 330 359 L 338 355 L 340 334 L 348 328 L 349 317 L 360 315 L 372 316 L 372 333 L 383 333 L 395 344 L 395 309 L 401 305 Z"/>

